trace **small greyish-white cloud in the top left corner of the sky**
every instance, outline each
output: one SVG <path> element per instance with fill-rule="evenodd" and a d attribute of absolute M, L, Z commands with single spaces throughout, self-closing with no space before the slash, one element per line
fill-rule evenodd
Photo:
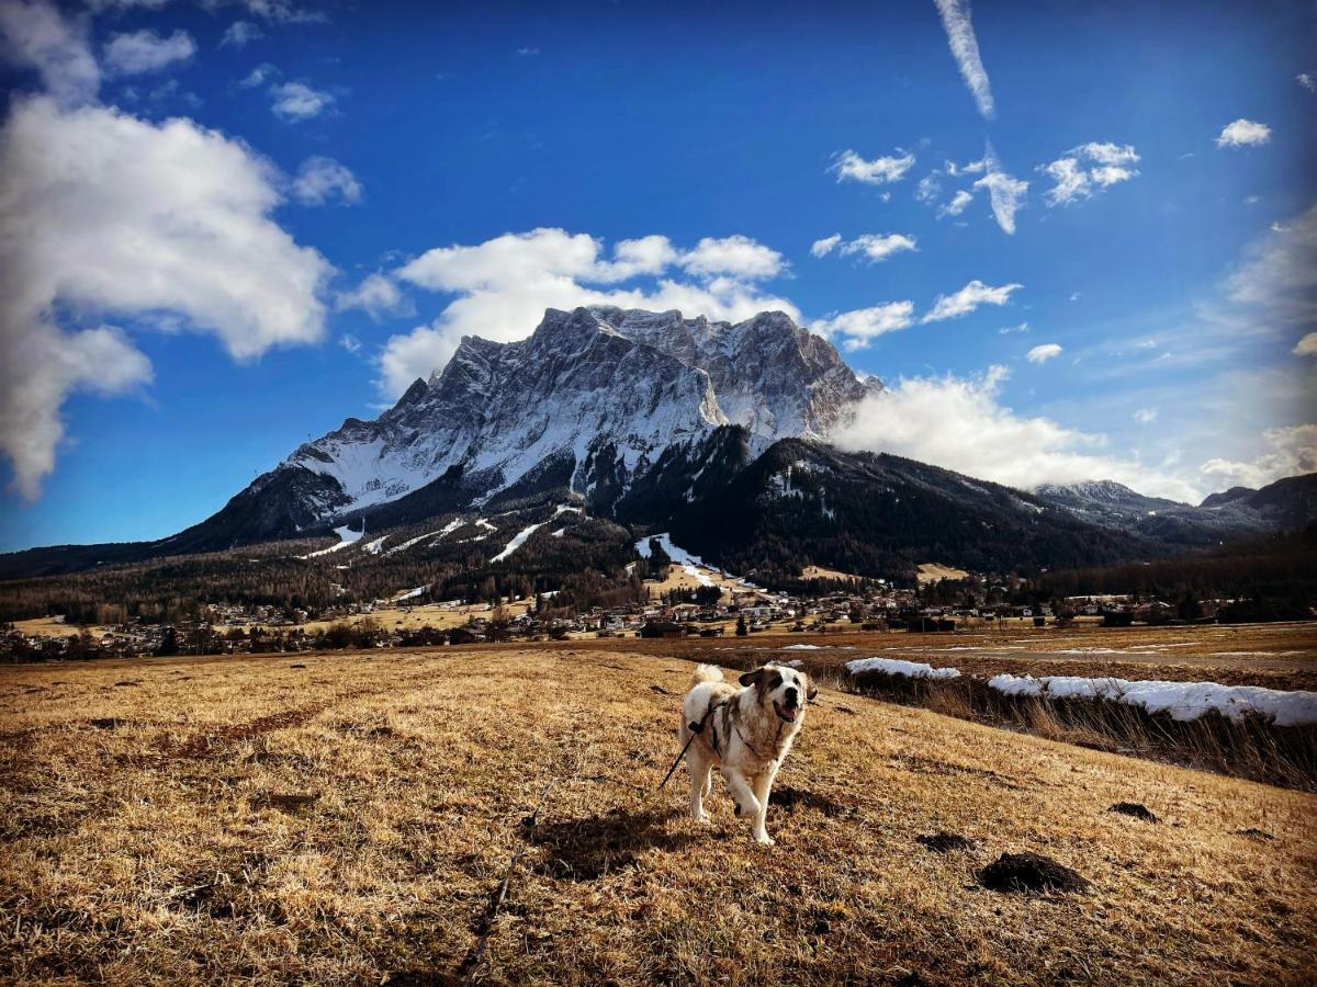
<path fill-rule="evenodd" d="M 46 0 L 0 1 L 0 58 L 34 70 L 55 100 L 74 107 L 96 99 L 100 68 L 88 43 L 90 18 L 66 20 Z"/>

